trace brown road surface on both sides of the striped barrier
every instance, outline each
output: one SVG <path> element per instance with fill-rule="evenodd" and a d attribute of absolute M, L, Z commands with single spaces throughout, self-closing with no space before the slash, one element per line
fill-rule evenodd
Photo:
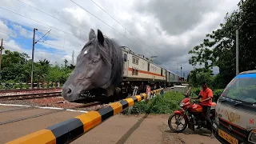
<path fill-rule="evenodd" d="M 6 108 L 8 107 L 8 108 Z M 18 106 L 0 106 L 0 110 L 13 109 Z M 27 117 L 34 114 L 42 114 L 51 110 L 44 109 L 26 109 L 14 110 L 1 113 L 0 122 L 6 122 L 11 119 Z M 9 142 L 15 138 L 22 137 L 34 131 L 52 126 L 58 122 L 73 118 L 81 112 L 62 111 L 53 114 L 46 114 L 36 118 L 29 118 L 18 122 L 11 122 L 0 125 L 0 142 Z M 174 134 L 170 132 L 167 125 L 168 115 L 115 115 L 103 122 L 101 125 L 90 130 L 87 134 L 74 140 L 77 143 L 189 143 L 189 144 L 218 144 L 215 138 L 209 138 L 207 130 L 196 130 L 196 134 L 191 130 L 185 130 L 184 133 Z"/>

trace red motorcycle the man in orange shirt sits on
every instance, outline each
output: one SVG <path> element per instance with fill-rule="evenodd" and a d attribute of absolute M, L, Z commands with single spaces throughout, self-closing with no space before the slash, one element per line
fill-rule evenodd
<path fill-rule="evenodd" d="M 200 102 L 190 102 L 190 98 L 186 96 L 186 98 L 184 98 L 182 102 L 180 102 L 179 106 L 180 110 L 175 110 L 174 114 L 171 114 L 168 119 L 168 125 L 170 127 L 170 130 L 174 131 L 175 133 L 180 133 L 185 130 L 187 126 L 190 130 L 193 131 L 194 126 L 203 127 L 210 130 L 210 126 L 207 125 L 206 114 L 204 113 Z M 215 119 L 215 106 L 216 103 L 212 102 L 210 108 L 211 122 L 214 122 Z M 173 122 L 173 118 L 176 122 Z M 184 119 L 184 123 L 181 122 L 182 119 Z M 177 127 L 174 128 L 171 125 L 172 123 L 175 123 Z M 178 126 L 180 125 L 182 125 L 182 128 L 178 129 Z"/>

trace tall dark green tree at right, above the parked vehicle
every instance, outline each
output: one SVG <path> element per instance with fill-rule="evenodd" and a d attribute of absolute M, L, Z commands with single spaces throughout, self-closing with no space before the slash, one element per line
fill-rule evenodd
<path fill-rule="evenodd" d="M 256 1 L 238 3 L 238 10 L 226 14 L 225 23 L 218 30 L 206 34 L 203 42 L 194 46 L 189 54 L 190 65 L 202 65 L 208 69 L 218 66 L 217 76 L 220 86 L 225 86 L 235 76 L 235 30 L 239 27 L 239 71 L 254 70 L 256 67 Z M 243 24 L 243 25 L 242 25 Z M 220 79 L 223 79 L 220 81 Z M 217 83 L 217 82 L 215 82 Z"/>

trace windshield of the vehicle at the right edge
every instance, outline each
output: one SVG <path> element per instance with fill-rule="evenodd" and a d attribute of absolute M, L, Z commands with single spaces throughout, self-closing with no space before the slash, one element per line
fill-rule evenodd
<path fill-rule="evenodd" d="M 256 74 L 239 74 L 222 93 L 223 97 L 241 102 L 256 102 Z"/>

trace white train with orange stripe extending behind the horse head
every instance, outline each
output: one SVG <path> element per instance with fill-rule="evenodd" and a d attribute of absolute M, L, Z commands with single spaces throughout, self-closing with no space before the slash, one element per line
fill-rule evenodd
<path fill-rule="evenodd" d="M 160 86 L 172 86 L 181 82 L 178 74 L 135 54 L 129 47 L 122 46 L 121 49 L 124 61 L 122 90 L 132 93 L 134 86 L 138 86 L 139 90 L 145 92 L 146 85 L 150 85 L 151 89 L 158 89 Z"/>

